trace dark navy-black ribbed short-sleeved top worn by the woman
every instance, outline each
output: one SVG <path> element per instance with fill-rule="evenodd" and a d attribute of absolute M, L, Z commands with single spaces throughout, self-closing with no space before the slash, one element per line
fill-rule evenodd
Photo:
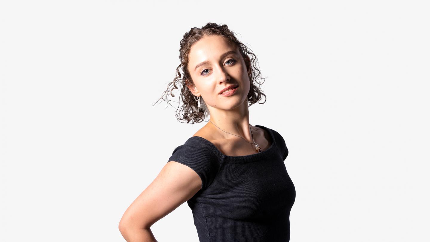
<path fill-rule="evenodd" d="M 190 137 L 169 161 L 193 169 L 202 187 L 187 201 L 200 242 L 288 242 L 295 187 L 285 164 L 283 137 L 270 128 L 271 146 L 228 156 L 203 137 Z M 168 161 L 168 162 L 169 162 Z"/>

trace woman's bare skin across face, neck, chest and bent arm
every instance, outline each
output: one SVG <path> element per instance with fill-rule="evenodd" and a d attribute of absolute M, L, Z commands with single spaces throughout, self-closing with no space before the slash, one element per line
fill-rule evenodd
<path fill-rule="evenodd" d="M 221 58 L 227 51 L 230 54 Z M 243 59 L 238 47 L 223 37 L 205 36 L 190 49 L 189 63 L 193 84 L 187 86 L 195 96 L 201 96 L 210 112 L 210 121 L 229 133 L 249 142 L 254 140 L 262 150 L 270 146 L 270 134 L 258 127 L 249 127 L 247 95 L 251 71 L 249 59 Z M 234 59 L 235 61 L 231 61 Z M 229 61 L 230 60 L 230 61 Z M 207 61 L 195 70 L 197 64 Z M 204 70 L 205 75 L 200 72 Z M 228 74 L 228 75 L 227 75 Z M 231 84 L 238 84 L 232 96 L 218 93 Z M 194 136 L 213 143 L 224 155 L 239 156 L 256 153 L 252 144 L 240 137 L 225 133 L 208 122 Z M 127 208 L 120 220 L 119 229 L 126 241 L 156 242 L 150 227 L 194 196 L 202 185 L 199 175 L 184 164 L 168 162 L 144 191 Z"/>

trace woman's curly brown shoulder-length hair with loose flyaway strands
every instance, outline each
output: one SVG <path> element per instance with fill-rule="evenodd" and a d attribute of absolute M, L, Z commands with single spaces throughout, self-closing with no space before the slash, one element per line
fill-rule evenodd
<path fill-rule="evenodd" d="M 261 88 L 258 85 L 261 85 L 264 83 L 265 78 L 260 77 L 260 70 L 257 68 L 258 62 L 257 57 L 255 56 L 252 51 L 245 46 L 244 43 L 237 40 L 237 34 L 230 31 L 228 29 L 227 25 L 217 25 L 216 23 L 207 23 L 202 28 L 191 28 L 190 31 L 186 32 L 180 41 L 181 48 L 179 49 L 179 59 L 181 61 L 181 64 L 178 65 L 176 68 L 176 77 L 173 79 L 172 82 L 170 82 L 167 86 L 167 90 L 163 92 L 163 95 L 160 97 L 160 99 L 163 99 L 163 101 L 167 101 L 168 104 L 169 99 L 167 99 L 168 96 L 175 97 L 175 95 L 172 93 L 173 90 L 179 89 L 178 85 L 182 84 L 181 87 L 181 93 L 180 93 L 180 99 L 183 101 L 183 105 L 179 106 L 178 102 L 178 109 L 177 112 L 175 112 L 176 118 L 178 118 L 178 121 L 184 120 L 187 121 L 187 123 L 192 122 L 194 123 L 200 123 L 204 120 L 204 118 L 207 117 L 209 113 L 209 109 L 207 108 L 203 98 L 203 102 L 201 102 L 201 108 L 200 111 L 197 108 L 197 101 L 195 100 L 195 96 L 191 91 L 187 88 L 187 85 L 193 84 L 193 80 L 191 79 L 190 72 L 188 71 L 187 65 L 188 65 L 188 54 L 190 52 L 191 46 L 202 39 L 205 36 L 211 36 L 211 35 L 219 35 L 221 37 L 224 37 L 227 41 L 230 43 L 234 43 L 237 47 L 239 47 L 240 54 L 242 55 L 243 59 L 245 60 L 246 66 L 250 66 L 251 71 L 249 74 L 249 80 L 250 80 L 250 88 L 248 93 L 248 104 L 251 106 L 252 104 L 260 101 L 262 97 L 264 96 L 264 102 L 266 102 L 266 95 L 262 92 Z M 251 58 L 249 57 L 251 56 Z M 182 70 L 182 74 L 181 71 Z M 259 83 L 257 79 L 262 79 L 262 82 Z M 164 97 L 166 99 L 164 99 Z M 158 100 L 160 100 L 158 99 Z M 157 102 L 158 102 L 157 100 Z M 157 103 L 156 102 L 156 103 Z M 263 104 L 264 102 L 258 102 L 259 104 Z M 173 105 L 172 105 L 173 106 Z M 248 106 L 248 107 L 249 107 Z M 181 121 L 180 121 L 181 122 Z M 181 122 L 182 123 L 182 122 Z"/>

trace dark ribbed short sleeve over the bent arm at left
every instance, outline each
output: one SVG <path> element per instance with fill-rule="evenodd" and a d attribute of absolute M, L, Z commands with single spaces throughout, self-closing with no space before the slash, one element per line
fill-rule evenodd
<path fill-rule="evenodd" d="M 213 182 L 220 167 L 220 162 L 212 150 L 193 137 L 176 147 L 169 161 L 176 161 L 193 169 L 202 180 L 200 190 L 206 189 Z"/>

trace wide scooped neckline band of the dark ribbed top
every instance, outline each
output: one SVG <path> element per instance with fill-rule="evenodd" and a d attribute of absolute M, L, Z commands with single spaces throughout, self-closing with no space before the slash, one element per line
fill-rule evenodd
<path fill-rule="evenodd" d="M 210 142 L 209 140 L 206 140 L 203 137 L 192 136 L 192 137 L 190 137 L 190 139 L 194 138 L 194 139 L 201 140 L 202 142 L 208 144 L 210 149 L 215 153 L 215 155 L 217 155 L 218 158 L 220 158 L 221 160 L 223 160 L 225 162 L 245 163 L 245 162 L 258 161 L 258 160 L 261 160 L 261 159 L 266 158 L 269 155 L 273 154 L 273 152 L 276 150 L 276 141 L 275 141 L 275 136 L 272 133 L 272 130 L 270 130 L 267 127 L 264 127 L 263 125 L 254 125 L 254 126 L 261 127 L 262 129 L 267 130 L 267 132 L 269 132 L 269 134 L 270 134 L 270 137 L 272 138 L 272 144 L 270 145 L 269 148 L 267 148 L 264 151 L 254 153 L 254 154 L 239 155 L 239 156 L 224 155 L 224 153 L 222 153 L 212 142 Z"/>

